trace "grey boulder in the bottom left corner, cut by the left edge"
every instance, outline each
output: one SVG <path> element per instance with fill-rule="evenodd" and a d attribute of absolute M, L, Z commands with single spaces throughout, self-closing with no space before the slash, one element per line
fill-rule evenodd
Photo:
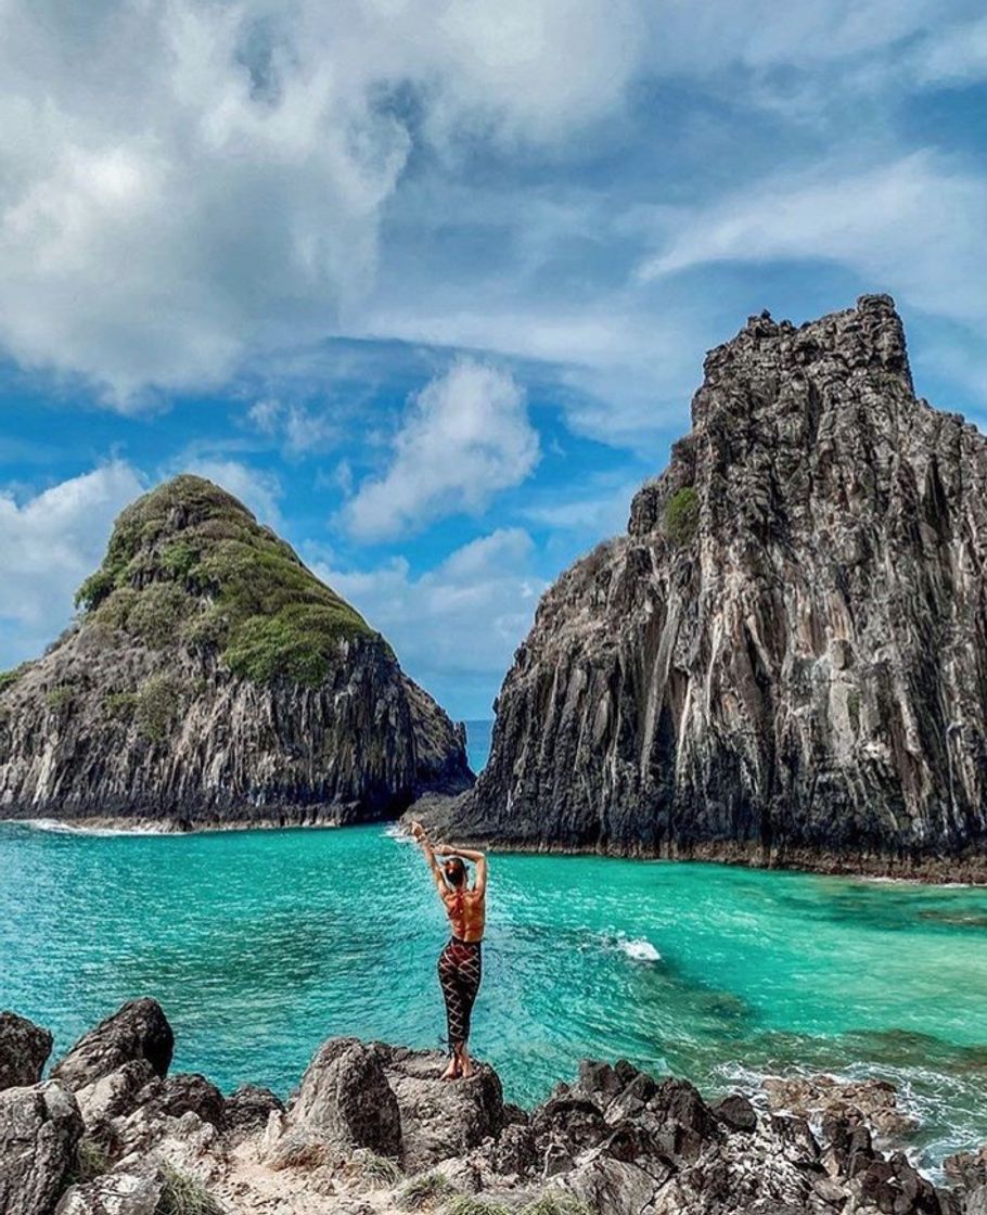
<path fill-rule="evenodd" d="M 81 1135 L 79 1107 L 61 1084 L 0 1092 L 0 1211 L 51 1215 Z"/>

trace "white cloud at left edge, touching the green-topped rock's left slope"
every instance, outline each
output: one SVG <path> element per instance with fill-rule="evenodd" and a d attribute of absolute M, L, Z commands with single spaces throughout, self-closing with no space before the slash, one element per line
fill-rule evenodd
<path fill-rule="evenodd" d="M 100 564 L 120 510 L 145 490 L 113 460 L 24 502 L 0 491 L 0 665 L 30 657 L 68 623 L 75 590 Z"/>

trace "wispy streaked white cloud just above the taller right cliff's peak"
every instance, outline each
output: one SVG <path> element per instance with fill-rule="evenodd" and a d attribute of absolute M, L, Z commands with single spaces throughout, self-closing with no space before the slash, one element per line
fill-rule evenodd
<path fill-rule="evenodd" d="M 987 322 L 987 180 L 931 152 L 857 171 L 758 181 L 684 215 L 644 279 L 718 261 L 822 259 L 915 307 Z"/>

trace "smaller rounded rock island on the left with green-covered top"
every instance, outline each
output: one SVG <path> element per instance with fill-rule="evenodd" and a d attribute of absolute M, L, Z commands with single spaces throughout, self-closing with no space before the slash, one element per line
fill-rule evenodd
<path fill-rule="evenodd" d="M 0 676 L 0 816 L 345 823 L 472 780 L 388 643 L 209 481 L 128 507 L 79 605 Z"/>

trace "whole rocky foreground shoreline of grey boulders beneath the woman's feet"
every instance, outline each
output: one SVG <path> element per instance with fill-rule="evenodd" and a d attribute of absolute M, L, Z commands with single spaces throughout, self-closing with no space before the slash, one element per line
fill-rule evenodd
<path fill-rule="evenodd" d="M 331 1038 L 282 1102 L 170 1072 L 134 1000 L 43 1073 L 47 1030 L 0 1013 L 4 1215 L 985 1215 L 987 1148 L 909 1162 L 891 1084 L 773 1078 L 710 1103 L 686 1080 L 585 1059 L 524 1111 L 481 1066 Z"/>

